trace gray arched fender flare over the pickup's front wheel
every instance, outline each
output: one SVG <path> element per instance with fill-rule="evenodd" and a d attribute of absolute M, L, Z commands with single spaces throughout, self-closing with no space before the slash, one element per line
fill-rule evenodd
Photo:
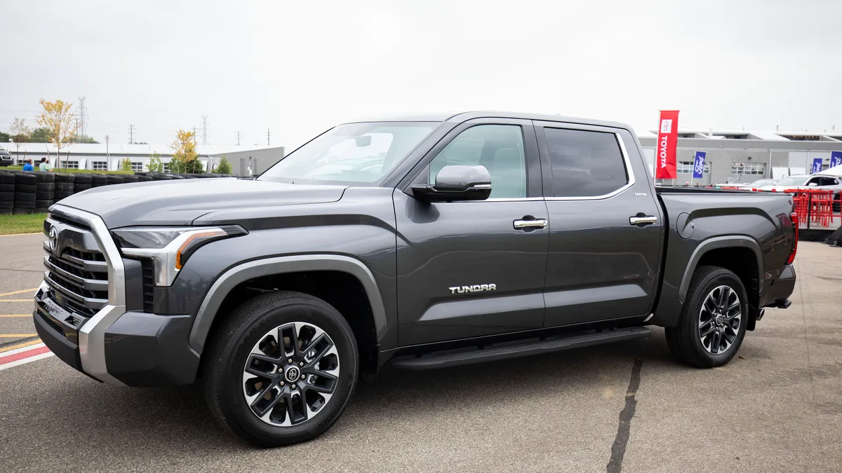
<path fill-rule="evenodd" d="M 386 332 L 386 309 L 380 290 L 377 288 L 374 275 L 369 268 L 360 261 L 347 256 L 333 254 L 307 254 L 296 256 L 284 256 L 278 258 L 265 258 L 238 264 L 228 269 L 216 279 L 210 290 L 202 300 L 193 328 L 190 331 L 189 343 L 196 353 L 202 353 L 205 348 L 210 327 L 216 318 L 216 312 L 225 300 L 226 295 L 232 289 L 248 279 L 267 276 L 269 274 L 297 273 L 303 271 L 341 271 L 354 276 L 360 280 L 368 295 L 371 313 L 374 316 L 374 324 L 378 338 Z"/>

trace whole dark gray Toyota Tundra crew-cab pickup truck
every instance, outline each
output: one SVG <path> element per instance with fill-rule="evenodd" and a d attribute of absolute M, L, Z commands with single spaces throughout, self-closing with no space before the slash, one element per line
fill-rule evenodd
<path fill-rule="evenodd" d="M 656 189 L 617 123 L 365 120 L 257 178 L 61 200 L 35 326 L 95 380 L 200 382 L 237 437 L 294 444 L 385 364 L 634 340 L 647 325 L 684 364 L 726 364 L 765 307 L 790 304 L 791 210 L 787 194 Z"/>

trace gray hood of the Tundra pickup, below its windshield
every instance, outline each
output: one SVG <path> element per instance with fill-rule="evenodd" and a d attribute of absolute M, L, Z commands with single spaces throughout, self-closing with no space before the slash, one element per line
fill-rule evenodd
<path fill-rule="evenodd" d="M 184 226 L 215 210 L 335 202 L 344 189 L 237 178 L 179 179 L 102 186 L 60 204 L 97 214 L 109 228 Z"/>

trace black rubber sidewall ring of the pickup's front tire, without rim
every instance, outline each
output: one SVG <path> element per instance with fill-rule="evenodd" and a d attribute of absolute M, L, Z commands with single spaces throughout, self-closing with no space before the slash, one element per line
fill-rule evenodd
<path fill-rule="evenodd" d="M 328 406 L 316 416 L 298 426 L 275 427 L 264 423 L 248 407 L 242 395 L 242 371 L 254 344 L 258 343 L 266 332 L 289 322 L 312 323 L 328 333 L 339 354 L 339 379 L 336 391 L 328 401 Z M 221 390 L 232 421 L 261 443 L 276 444 L 278 437 L 283 436 L 283 444 L 295 444 L 314 438 L 328 430 L 343 411 L 357 377 L 354 334 L 347 322 L 335 309 L 331 313 L 324 307 L 305 301 L 290 301 L 290 304 L 255 316 L 253 322 L 245 324 L 239 333 L 232 334 L 232 343 L 228 343 L 226 353 L 220 361 L 226 367 L 222 375 L 222 382 L 225 384 L 221 386 Z"/>

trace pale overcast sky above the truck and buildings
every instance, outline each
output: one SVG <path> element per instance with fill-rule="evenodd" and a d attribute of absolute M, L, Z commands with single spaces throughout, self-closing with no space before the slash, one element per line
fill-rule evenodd
<path fill-rule="evenodd" d="M 842 2 L 15 2 L 0 130 L 39 98 L 99 141 L 297 146 L 343 120 L 505 109 L 653 125 L 842 127 Z"/>

